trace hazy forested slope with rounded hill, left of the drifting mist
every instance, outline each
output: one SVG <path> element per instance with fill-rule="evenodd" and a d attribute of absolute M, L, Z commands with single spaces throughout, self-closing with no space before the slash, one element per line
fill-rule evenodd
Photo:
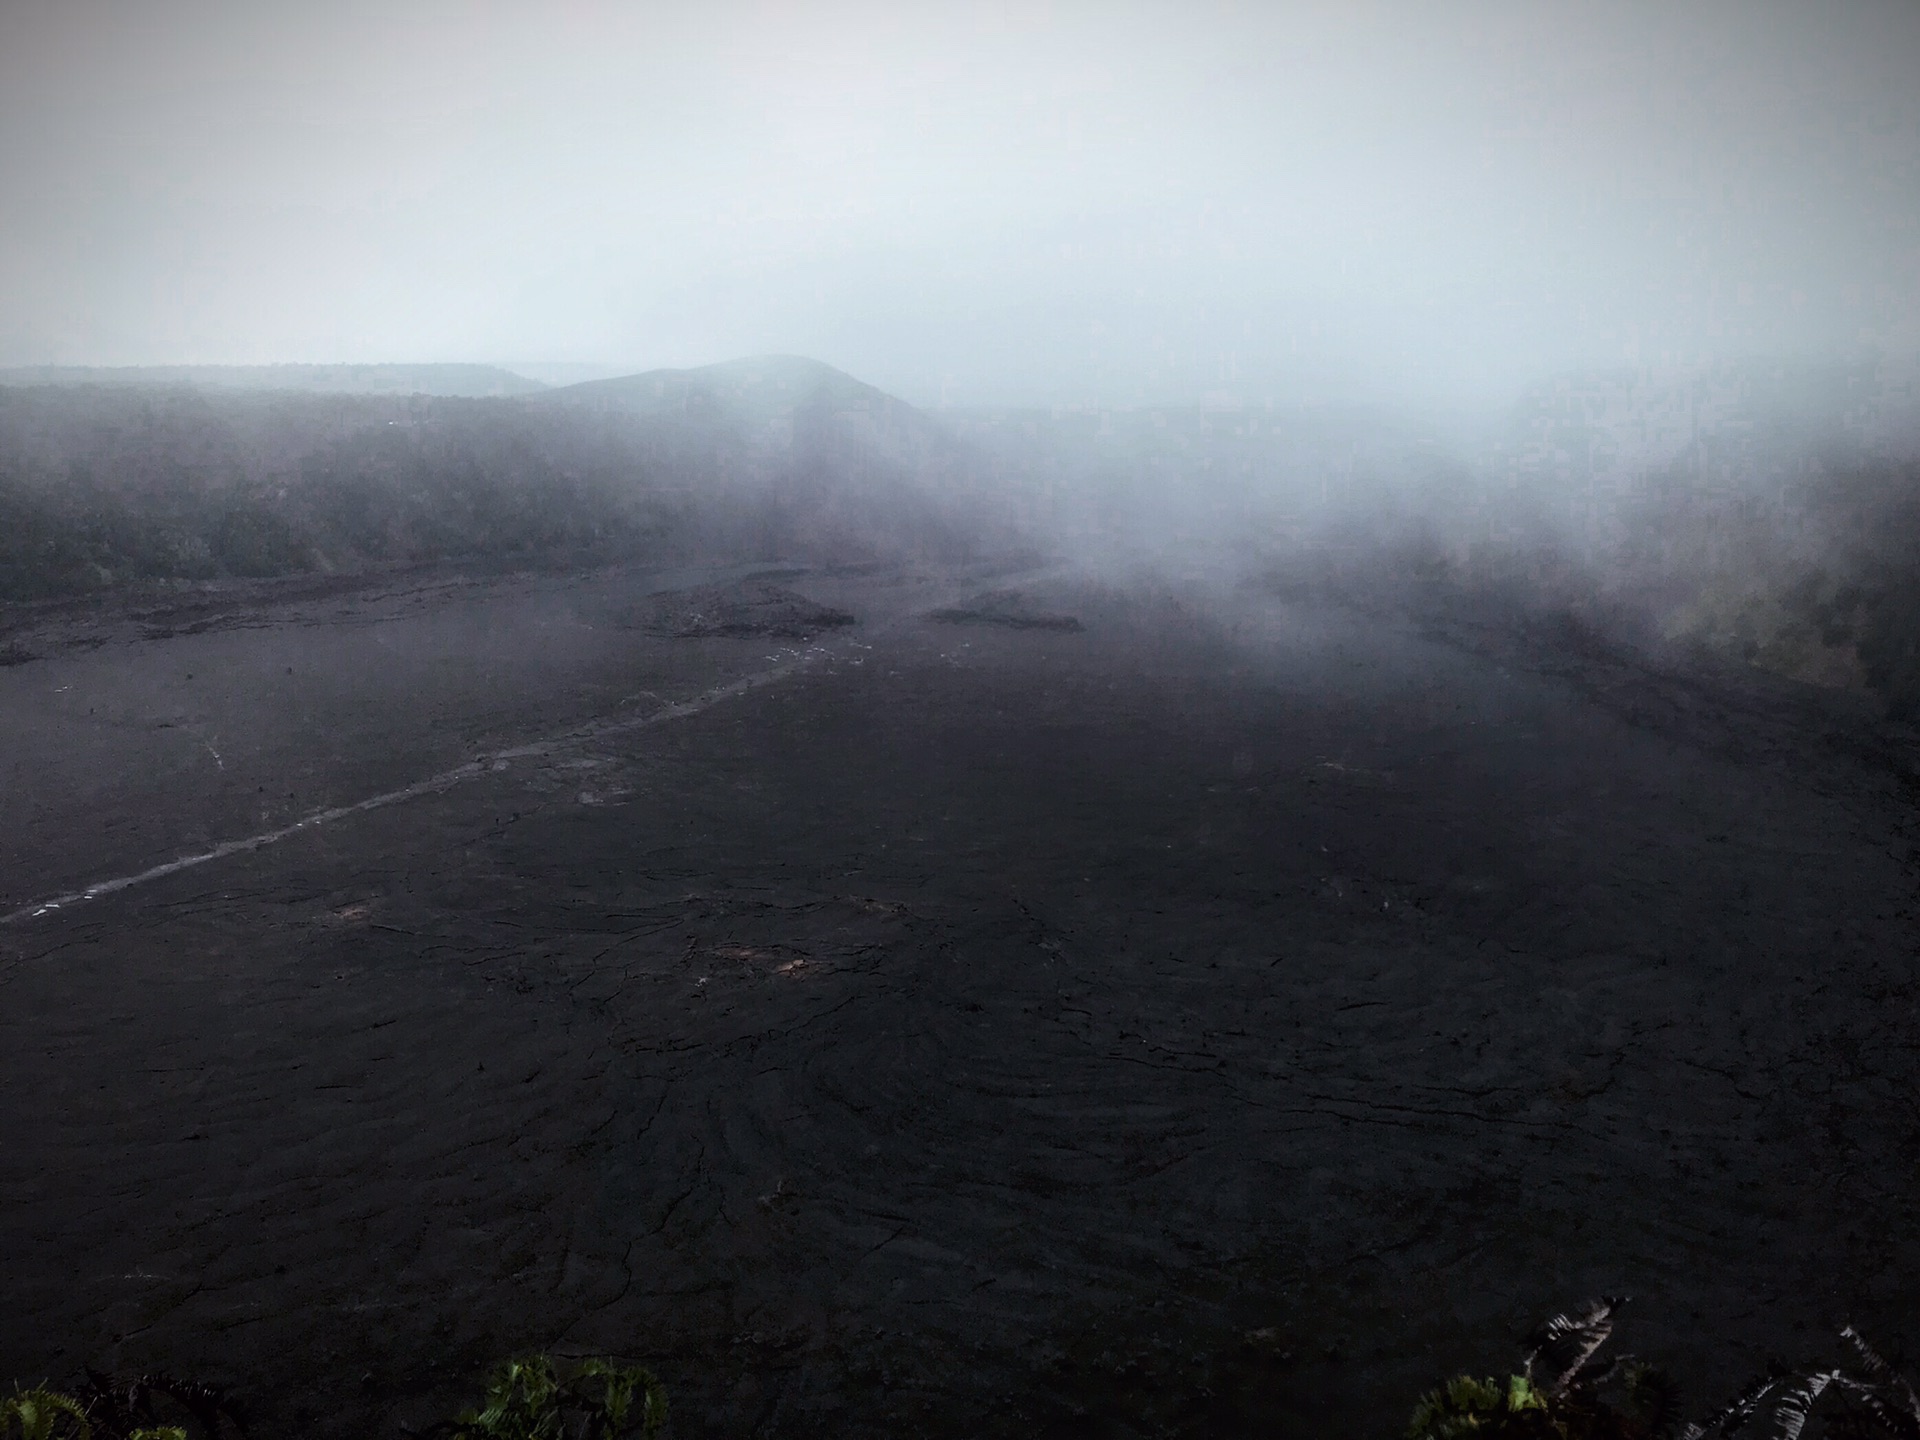
<path fill-rule="evenodd" d="M 0 599 L 476 559 L 1004 551 L 975 451 L 810 361 L 524 397 L 0 386 Z"/>

